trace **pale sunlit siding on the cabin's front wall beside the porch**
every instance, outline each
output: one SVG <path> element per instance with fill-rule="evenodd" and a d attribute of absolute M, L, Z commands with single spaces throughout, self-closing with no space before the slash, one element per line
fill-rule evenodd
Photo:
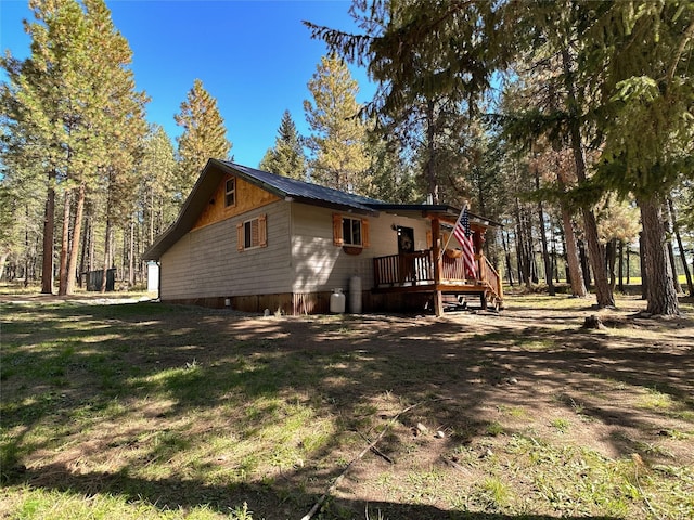
<path fill-rule="evenodd" d="M 333 243 L 333 214 L 336 211 L 306 205 L 292 205 L 292 266 L 294 292 L 314 292 L 342 287 L 347 290 L 352 276 L 361 277 L 362 291 L 373 286 L 373 258 L 398 251 L 397 233 L 401 225 L 414 229 L 415 249 L 427 248 L 428 220 L 388 213 L 363 217 L 369 221 L 370 245 L 360 255 L 349 255 Z"/>

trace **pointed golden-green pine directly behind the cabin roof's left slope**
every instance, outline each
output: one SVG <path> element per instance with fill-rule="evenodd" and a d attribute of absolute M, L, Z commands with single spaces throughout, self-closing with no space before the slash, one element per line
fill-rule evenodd
<path fill-rule="evenodd" d="M 183 133 L 177 138 L 179 155 L 178 184 L 180 199 L 184 200 L 207 160 L 229 158 L 232 144 L 227 140 L 224 120 L 217 108 L 217 100 L 195 79 L 193 88 L 175 116 Z"/>

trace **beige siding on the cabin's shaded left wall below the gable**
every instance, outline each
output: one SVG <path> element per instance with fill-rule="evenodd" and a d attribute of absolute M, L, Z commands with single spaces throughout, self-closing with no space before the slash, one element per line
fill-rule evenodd
<path fill-rule="evenodd" d="M 291 292 L 290 203 L 191 231 L 162 257 L 162 299 Z M 267 216 L 267 247 L 236 250 L 236 224 Z"/>

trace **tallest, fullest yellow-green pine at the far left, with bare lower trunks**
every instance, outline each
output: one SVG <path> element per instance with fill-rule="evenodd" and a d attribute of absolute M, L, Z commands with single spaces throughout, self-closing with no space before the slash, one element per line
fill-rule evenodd
<path fill-rule="evenodd" d="M 75 288 L 83 209 L 115 154 L 137 135 L 144 98 L 133 91 L 131 52 L 103 0 L 37 0 L 27 24 L 31 56 L 3 61 L 14 98 L 15 139 L 48 180 L 43 290 L 51 291 L 55 197 L 63 199 L 61 295 Z M 124 126 L 127 122 L 127 126 Z"/>

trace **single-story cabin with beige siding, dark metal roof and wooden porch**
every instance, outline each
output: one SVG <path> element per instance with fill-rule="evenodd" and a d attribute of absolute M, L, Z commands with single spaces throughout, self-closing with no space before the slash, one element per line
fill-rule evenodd
<path fill-rule="evenodd" d="M 448 295 L 499 307 L 501 280 L 481 253 L 492 222 L 470 214 L 477 276 L 441 253 L 460 210 L 388 204 L 210 159 L 178 220 L 144 252 L 162 301 L 286 314 L 325 313 L 335 288 L 351 311 L 444 312 Z M 458 246 L 455 238 L 451 245 Z"/>

